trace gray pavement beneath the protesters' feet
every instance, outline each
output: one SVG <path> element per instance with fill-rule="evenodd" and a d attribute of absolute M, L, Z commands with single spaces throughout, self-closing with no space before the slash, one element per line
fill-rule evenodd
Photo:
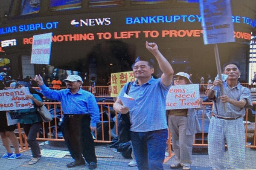
<path fill-rule="evenodd" d="M 79 167 L 67 168 L 66 164 L 73 161 L 68 156 L 66 147 L 53 147 L 47 142 L 41 143 L 41 150 L 46 157 L 42 156 L 38 163 L 29 165 L 31 158 L 31 151 L 22 153 L 22 158 L 15 160 L 0 159 L 0 170 L 87 170 L 88 165 L 81 165 Z M 6 152 L 0 140 L 0 156 Z M 64 155 L 63 155 L 64 154 Z M 63 158 L 54 158 L 58 156 Z M 65 156 L 67 155 L 67 156 Z M 117 153 L 113 148 L 108 147 L 108 144 L 96 144 L 96 155 L 98 156 L 98 167 L 96 170 L 137 170 L 137 167 L 128 167 L 131 159 L 124 158 L 121 153 Z M 227 155 L 227 152 L 226 152 Z M 256 168 L 256 150 L 250 148 L 246 149 L 246 168 Z M 174 161 L 172 157 L 169 161 L 163 164 L 165 170 L 170 170 L 170 164 Z M 227 162 L 226 162 L 227 163 Z M 182 170 L 182 168 L 177 169 Z M 191 170 L 211 170 L 208 155 L 193 155 Z"/>

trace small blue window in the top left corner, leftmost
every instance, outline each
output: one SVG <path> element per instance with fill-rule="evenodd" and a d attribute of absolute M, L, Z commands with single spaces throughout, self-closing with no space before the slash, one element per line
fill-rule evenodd
<path fill-rule="evenodd" d="M 41 0 L 22 0 L 21 15 L 35 14 L 40 10 Z"/>

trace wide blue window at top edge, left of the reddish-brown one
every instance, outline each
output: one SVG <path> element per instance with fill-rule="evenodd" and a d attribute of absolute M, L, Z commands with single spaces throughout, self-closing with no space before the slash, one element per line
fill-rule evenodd
<path fill-rule="evenodd" d="M 50 0 L 50 11 L 76 10 L 82 8 L 81 0 Z"/>

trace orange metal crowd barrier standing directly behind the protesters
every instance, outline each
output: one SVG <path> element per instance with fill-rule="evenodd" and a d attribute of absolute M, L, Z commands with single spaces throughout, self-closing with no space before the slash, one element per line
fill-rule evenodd
<path fill-rule="evenodd" d="M 39 141 L 64 141 L 62 135 L 58 130 L 59 118 L 62 117 L 63 112 L 60 102 L 44 102 L 47 108 L 52 113 L 53 120 L 48 123 L 42 123 L 42 131 L 38 133 L 37 140 Z M 113 110 L 113 103 L 97 103 L 101 112 L 100 121 L 97 124 L 97 129 L 93 135 L 95 136 L 94 142 L 96 143 L 111 143 L 112 134 L 118 135 L 118 119 L 117 112 Z M 256 148 L 256 102 L 253 103 L 253 109 L 246 109 L 246 115 L 244 116 L 244 128 L 245 128 L 245 147 Z M 211 117 L 212 103 L 203 103 L 202 109 L 198 112 L 198 120 L 201 124 L 201 133 L 195 135 L 195 141 L 193 147 L 208 147 L 207 133 L 209 118 Z M 208 124 L 208 125 L 207 125 Z M 20 141 L 21 152 L 28 150 L 28 143 L 26 135 L 24 134 L 20 124 L 17 124 L 18 138 Z M 169 133 L 167 140 L 168 156 L 165 162 L 168 161 L 174 153 L 172 153 L 172 134 Z"/>

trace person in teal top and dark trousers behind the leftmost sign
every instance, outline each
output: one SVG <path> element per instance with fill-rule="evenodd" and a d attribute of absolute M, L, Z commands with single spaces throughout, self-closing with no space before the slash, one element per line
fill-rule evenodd
<path fill-rule="evenodd" d="M 24 132 L 27 136 L 28 144 L 31 148 L 32 158 L 29 161 L 29 165 L 35 164 L 41 157 L 41 151 L 38 142 L 36 141 L 37 133 L 40 132 L 42 127 L 42 119 L 37 112 L 37 107 L 43 106 L 43 95 L 37 92 L 35 89 L 30 88 L 30 84 L 25 81 L 18 81 L 16 84 L 17 89 L 29 87 L 31 95 L 26 95 L 26 98 L 30 98 L 34 103 L 32 109 L 20 109 L 17 110 L 19 113 L 18 122 L 22 124 Z"/>

